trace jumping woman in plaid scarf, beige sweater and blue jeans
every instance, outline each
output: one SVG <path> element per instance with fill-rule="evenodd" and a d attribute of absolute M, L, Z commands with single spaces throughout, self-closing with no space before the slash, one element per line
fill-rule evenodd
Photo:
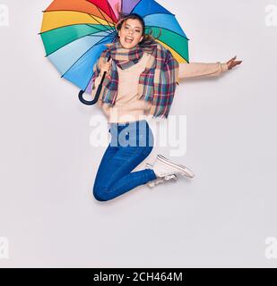
<path fill-rule="evenodd" d="M 140 15 L 123 17 L 117 24 L 116 41 L 102 52 L 93 68 L 92 97 L 107 71 L 98 104 L 108 117 L 111 135 L 94 181 L 94 198 L 107 201 L 143 184 L 152 187 L 177 180 L 177 175 L 193 178 L 186 166 L 160 154 L 154 164 L 132 172 L 153 148 L 146 118 L 149 114 L 168 117 L 178 79 L 218 76 L 240 63 L 236 56 L 227 63 L 177 63 L 168 49 L 145 34 Z"/>

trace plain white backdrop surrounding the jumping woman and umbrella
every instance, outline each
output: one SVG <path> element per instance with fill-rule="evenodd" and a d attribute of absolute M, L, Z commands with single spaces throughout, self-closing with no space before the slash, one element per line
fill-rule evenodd
<path fill-rule="evenodd" d="M 187 146 L 175 160 L 193 180 L 100 203 L 91 188 L 106 147 L 92 147 L 90 134 L 102 111 L 82 105 L 44 57 L 38 33 L 50 1 L 0 0 L 9 13 L 0 26 L 1 267 L 277 266 L 265 244 L 277 238 L 277 1 L 159 3 L 190 38 L 190 62 L 244 62 L 177 87 L 170 114 L 186 115 Z"/>

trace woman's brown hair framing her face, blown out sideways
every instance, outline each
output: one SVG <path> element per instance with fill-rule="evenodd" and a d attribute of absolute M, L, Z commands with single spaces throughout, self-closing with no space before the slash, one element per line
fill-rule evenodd
<path fill-rule="evenodd" d="M 136 19 L 136 20 L 140 21 L 140 23 L 143 26 L 143 40 L 138 45 L 149 46 L 151 44 L 156 43 L 156 39 L 160 38 L 161 31 L 160 31 L 160 34 L 157 38 L 154 38 L 152 36 L 152 29 L 150 29 L 150 32 L 148 34 L 145 34 L 145 22 L 143 20 L 143 17 L 141 17 L 137 13 L 130 13 L 130 14 L 119 13 L 119 21 L 117 22 L 117 26 L 116 26 L 117 32 L 118 32 L 118 30 L 120 30 L 122 28 L 123 23 L 125 21 L 127 21 L 128 19 Z M 117 39 L 118 39 L 118 34 L 117 34 Z"/>

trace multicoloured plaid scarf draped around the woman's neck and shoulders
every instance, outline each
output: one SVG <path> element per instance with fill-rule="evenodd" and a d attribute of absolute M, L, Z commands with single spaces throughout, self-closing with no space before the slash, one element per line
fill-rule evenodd
<path fill-rule="evenodd" d="M 103 103 L 108 103 L 109 106 L 115 105 L 118 85 L 117 66 L 127 69 L 138 63 L 145 52 L 151 56 L 139 78 L 138 99 L 151 102 L 150 114 L 153 117 L 167 118 L 179 80 L 178 63 L 170 51 L 157 42 L 149 46 L 136 45 L 128 49 L 122 47 L 119 41 L 107 46 L 108 49 L 102 52 L 100 59 L 95 63 L 91 78 L 94 89 L 94 80 L 100 74 L 100 63 L 106 63 L 110 56 L 113 60 L 111 69 L 103 80 Z"/>

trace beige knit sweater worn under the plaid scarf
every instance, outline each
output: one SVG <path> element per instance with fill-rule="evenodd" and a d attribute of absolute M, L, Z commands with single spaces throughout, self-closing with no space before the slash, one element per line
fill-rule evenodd
<path fill-rule="evenodd" d="M 97 104 L 102 108 L 108 117 L 108 122 L 133 122 L 142 120 L 149 116 L 151 103 L 144 99 L 137 99 L 138 81 L 140 74 L 145 70 L 149 54 L 144 53 L 139 63 L 132 67 L 121 70 L 117 66 L 118 90 L 114 106 L 108 106 L 102 102 L 102 91 Z M 201 76 L 219 76 L 223 71 L 228 70 L 227 63 L 179 63 L 179 79 L 195 78 Z M 94 98 L 100 84 L 101 75 L 95 79 L 95 88 L 91 96 Z"/>

